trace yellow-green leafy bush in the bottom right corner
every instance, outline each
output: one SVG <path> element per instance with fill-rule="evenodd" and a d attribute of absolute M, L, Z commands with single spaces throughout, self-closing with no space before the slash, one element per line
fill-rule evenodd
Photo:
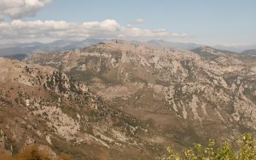
<path fill-rule="evenodd" d="M 166 147 L 166 155 L 161 160 L 256 160 L 252 134 L 243 134 L 238 140 L 239 150 L 236 151 L 229 141 L 217 146 L 215 140 L 209 140 L 207 146 L 195 144 L 177 154 L 171 147 Z"/>

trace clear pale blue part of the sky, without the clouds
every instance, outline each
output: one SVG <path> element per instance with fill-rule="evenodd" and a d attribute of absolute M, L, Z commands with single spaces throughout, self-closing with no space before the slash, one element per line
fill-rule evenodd
<path fill-rule="evenodd" d="M 255 0 L 54 0 L 38 9 L 34 17 L 20 19 L 75 23 L 115 20 L 120 26 L 187 34 L 163 37 L 169 41 L 256 43 Z M 143 22 L 137 23 L 137 19 Z"/>

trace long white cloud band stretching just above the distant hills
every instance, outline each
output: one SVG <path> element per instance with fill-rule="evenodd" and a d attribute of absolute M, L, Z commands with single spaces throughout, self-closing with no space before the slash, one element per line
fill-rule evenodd
<path fill-rule="evenodd" d="M 188 34 L 171 33 L 165 29 L 142 29 L 121 26 L 116 20 L 87 21 L 82 23 L 55 20 L 13 20 L 0 22 L 0 39 L 4 41 L 40 41 L 42 39 L 124 38 L 154 39 L 185 37 Z"/>

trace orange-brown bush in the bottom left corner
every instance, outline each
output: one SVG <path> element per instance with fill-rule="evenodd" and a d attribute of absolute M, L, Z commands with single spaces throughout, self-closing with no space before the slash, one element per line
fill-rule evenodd
<path fill-rule="evenodd" d="M 13 155 L 9 151 L 0 151 L 1 160 L 72 160 L 70 155 L 61 153 L 53 157 L 48 150 L 39 149 L 37 145 L 26 146 L 17 154 Z"/>

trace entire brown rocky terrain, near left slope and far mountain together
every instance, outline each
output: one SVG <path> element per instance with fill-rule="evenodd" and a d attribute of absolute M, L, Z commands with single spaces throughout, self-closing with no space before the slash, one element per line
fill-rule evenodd
<path fill-rule="evenodd" d="M 2 137 L 9 135 L 3 138 L 9 142 L 2 140 L 4 147 L 16 140 L 10 129 L 23 121 L 17 130 L 42 123 L 26 133 L 53 151 L 72 146 L 72 153 L 106 159 L 129 154 L 154 159 L 167 145 L 180 151 L 209 138 L 221 142 L 255 133 L 255 56 L 206 46 L 181 51 L 113 40 L 32 54 L 27 64 L 1 60 L 1 113 L 14 111 L 8 106 L 19 108 L 3 116 Z M 102 154 L 95 154 L 98 147 Z M 135 156 L 122 157 L 130 158 Z"/>

